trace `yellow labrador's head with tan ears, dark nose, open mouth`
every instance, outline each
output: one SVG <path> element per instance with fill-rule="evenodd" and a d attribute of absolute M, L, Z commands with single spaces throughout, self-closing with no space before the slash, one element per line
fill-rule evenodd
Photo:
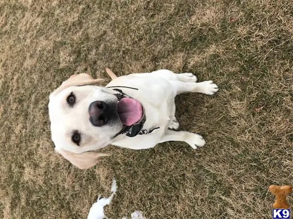
<path fill-rule="evenodd" d="M 94 166 L 107 153 L 92 152 L 111 144 L 124 126 L 140 116 L 138 101 L 96 86 L 103 79 L 72 75 L 50 94 L 49 117 L 55 149 L 79 168 Z"/>

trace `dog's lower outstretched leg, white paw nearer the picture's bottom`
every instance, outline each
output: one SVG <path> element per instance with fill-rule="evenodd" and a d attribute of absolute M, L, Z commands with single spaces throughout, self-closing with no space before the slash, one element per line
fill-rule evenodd
<path fill-rule="evenodd" d="M 188 131 L 172 131 L 169 129 L 166 131 L 160 143 L 168 141 L 186 142 L 193 149 L 196 149 L 198 146 L 204 146 L 206 144 L 206 141 L 201 135 Z"/>

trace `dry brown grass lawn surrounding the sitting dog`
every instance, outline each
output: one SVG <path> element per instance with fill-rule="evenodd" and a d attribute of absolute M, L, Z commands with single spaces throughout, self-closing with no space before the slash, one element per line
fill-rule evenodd
<path fill-rule="evenodd" d="M 269 185 L 293 184 L 293 2 L 166 2 L 0 1 L 0 218 L 86 218 L 112 178 L 109 218 L 271 218 Z M 181 129 L 207 146 L 111 146 L 90 170 L 55 154 L 49 93 L 105 67 L 214 80 L 214 97 L 176 98 Z"/>

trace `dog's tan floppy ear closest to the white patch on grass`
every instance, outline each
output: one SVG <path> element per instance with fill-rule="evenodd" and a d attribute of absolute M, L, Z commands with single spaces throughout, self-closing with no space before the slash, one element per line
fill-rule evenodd
<path fill-rule="evenodd" d="M 99 162 L 100 157 L 110 156 L 110 153 L 87 151 L 81 154 L 71 153 L 63 149 L 57 150 L 66 160 L 80 169 L 88 169 Z"/>

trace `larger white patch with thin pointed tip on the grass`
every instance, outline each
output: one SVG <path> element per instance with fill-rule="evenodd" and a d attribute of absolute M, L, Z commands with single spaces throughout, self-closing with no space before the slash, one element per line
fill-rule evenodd
<path fill-rule="evenodd" d="M 104 213 L 104 207 L 109 205 L 113 199 L 114 194 L 116 193 L 117 186 L 116 180 L 113 180 L 112 187 L 111 187 L 111 196 L 109 198 L 101 198 L 98 197 L 98 200 L 92 204 L 91 208 L 89 209 L 87 219 L 105 219 L 107 218 Z"/>

